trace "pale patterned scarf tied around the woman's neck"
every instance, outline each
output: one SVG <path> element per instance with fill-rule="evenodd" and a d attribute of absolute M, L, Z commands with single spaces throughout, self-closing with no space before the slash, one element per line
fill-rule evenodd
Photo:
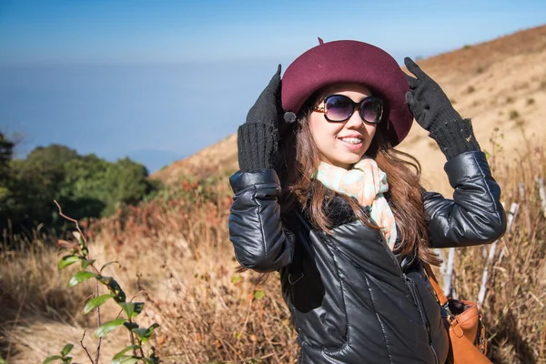
<path fill-rule="evenodd" d="M 357 198 L 360 206 L 369 207 L 371 218 L 381 227 L 389 248 L 394 248 L 396 223 L 383 196 L 389 190 L 389 183 L 375 160 L 364 156 L 350 170 L 320 162 L 314 177 L 329 189 Z"/>

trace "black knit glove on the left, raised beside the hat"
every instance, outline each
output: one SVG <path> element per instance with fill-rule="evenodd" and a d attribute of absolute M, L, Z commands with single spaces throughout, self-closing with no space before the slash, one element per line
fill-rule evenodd
<path fill-rule="evenodd" d="M 241 171 L 257 171 L 273 167 L 277 153 L 278 117 L 280 106 L 280 65 L 254 106 L 250 107 L 247 122 L 238 127 L 238 163 Z"/>

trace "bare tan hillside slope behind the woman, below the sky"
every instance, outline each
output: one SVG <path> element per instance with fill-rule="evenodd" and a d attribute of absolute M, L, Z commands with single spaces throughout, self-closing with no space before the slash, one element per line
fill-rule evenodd
<path fill-rule="evenodd" d="M 528 145 L 523 136 L 530 136 L 533 143 L 545 136 L 546 25 L 418 63 L 450 96 L 460 114 L 472 118 L 483 150 L 511 160 L 513 153 L 523 153 Z M 496 139 L 495 147 L 491 136 Z M 426 187 L 449 191 L 442 171 L 445 158 L 426 131 L 414 124 L 399 149 L 418 158 Z M 187 174 L 207 177 L 237 167 L 234 134 L 151 177 L 175 183 Z"/>

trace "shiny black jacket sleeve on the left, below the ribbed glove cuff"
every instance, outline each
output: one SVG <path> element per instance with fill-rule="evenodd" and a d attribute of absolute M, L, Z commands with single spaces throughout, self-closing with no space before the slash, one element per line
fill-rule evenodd
<path fill-rule="evenodd" d="M 293 258 L 294 237 L 282 227 L 280 182 L 274 169 L 237 172 L 229 178 L 235 193 L 229 215 L 229 240 L 241 266 L 271 272 Z"/>

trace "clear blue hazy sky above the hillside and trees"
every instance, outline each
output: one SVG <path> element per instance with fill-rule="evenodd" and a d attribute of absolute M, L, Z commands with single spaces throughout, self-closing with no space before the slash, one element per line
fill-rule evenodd
<path fill-rule="evenodd" d="M 546 23 L 535 1 L 0 0 L 0 130 L 151 170 L 234 133 L 278 63 L 358 39 L 431 56 Z"/>

